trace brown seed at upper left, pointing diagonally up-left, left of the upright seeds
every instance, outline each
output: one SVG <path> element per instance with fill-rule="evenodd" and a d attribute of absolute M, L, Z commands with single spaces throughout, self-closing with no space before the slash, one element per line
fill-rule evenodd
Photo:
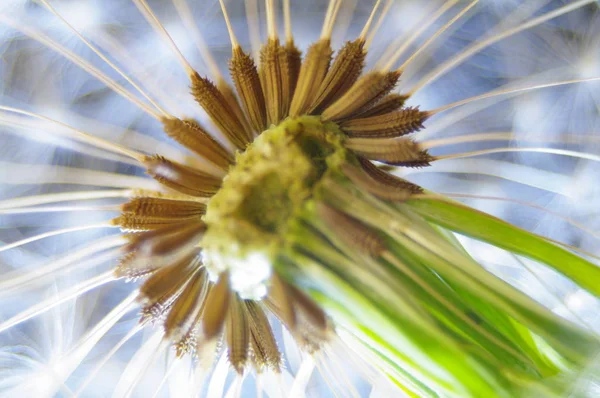
<path fill-rule="evenodd" d="M 201 77 L 198 73 L 192 74 L 191 80 L 192 95 L 219 130 L 238 149 L 246 149 L 250 141 L 246 136 L 244 122 L 236 116 L 227 98 L 210 80 Z"/>

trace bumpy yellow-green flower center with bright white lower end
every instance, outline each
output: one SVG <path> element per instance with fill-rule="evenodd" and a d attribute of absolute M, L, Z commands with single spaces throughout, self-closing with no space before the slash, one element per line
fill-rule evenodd
<path fill-rule="evenodd" d="M 335 123 L 318 116 L 288 119 L 264 131 L 236 157 L 204 221 L 203 256 L 216 278 L 231 273 L 242 297 L 260 298 L 288 226 L 313 197 L 316 184 L 352 157 Z"/>

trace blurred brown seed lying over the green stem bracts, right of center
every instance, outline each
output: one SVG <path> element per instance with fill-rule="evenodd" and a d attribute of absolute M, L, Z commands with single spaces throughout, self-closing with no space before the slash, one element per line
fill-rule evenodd
<path fill-rule="evenodd" d="M 358 249 L 370 257 L 379 257 L 385 249 L 381 236 L 354 217 L 324 203 L 317 211 L 329 228 L 348 246 Z"/>

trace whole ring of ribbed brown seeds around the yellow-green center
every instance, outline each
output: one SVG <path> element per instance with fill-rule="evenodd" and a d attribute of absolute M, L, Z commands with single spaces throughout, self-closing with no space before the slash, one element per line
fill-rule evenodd
<path fill-rule="evenodd" d="M 360 167 L 348 164 L 342 172 L 356 185 L 394 201 L 421 192 L 370 161 L 425 166 L 432 158 L 418 143 L 402 137 L 422 128 L 429 114 L 404 107 L 407 97 L 391 93 L 400 71 L 361 75 L 367 54 L 364 35 L 347 42 L 333 59 L 330 37 L 325 34 L 302 59 L 293 39 L 281 45 L 271 31 L 258 66 L 233 38 L 232 43 L 235 90 L 222 79 L 214 84 L 196 72 L 190 73 L 190 79 L 194 98 L 237 150 L 244 151 L 261 132 L 286 118 L 319 115 L 346 134 L 343 145 L 357 155 Z M 197 121 L 165 117 L 162 123 L 170 137 L 217 168 L 226 172 L 234 164 L 234 155 Z M 145 165 L 168 193 L 140 192 L 114 220 L 129 233 L 117 274 L 144 278 L 142 320 L 161 322 L 165 337 L 180 355 L 203 353 L 206 347 L 212 347 L 214 354 L 223 339 L 229 360 L 240 373 L 248 365 L 258 371 L 281 366 L 269 312 L 302 347 L 318 349 L 330 332 L 324 312 L 277 274 L 260 302 L 243 300 L 232 291 L 227 272 L 215 282 L 209 280 L 200 257 L 207 229 L 202 217 L 222 177 L 158 155 L 148 156 Z M 352 235 L 349 239 L 363 242 L 367 253 L 381 252 L 381 243 L 352 217 L 327 205 L 319 211 L 345 236 Z"/>

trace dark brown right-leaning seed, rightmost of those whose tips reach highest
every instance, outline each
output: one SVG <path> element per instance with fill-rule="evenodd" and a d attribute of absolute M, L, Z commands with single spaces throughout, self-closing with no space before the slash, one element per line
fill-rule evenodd
<path fill-rule="evenodd" d="M 365 66 L 365 41 L 347 42 L 340 49 L 310 107 L 310 113 L 320 114 L 352 87 Z"/>

